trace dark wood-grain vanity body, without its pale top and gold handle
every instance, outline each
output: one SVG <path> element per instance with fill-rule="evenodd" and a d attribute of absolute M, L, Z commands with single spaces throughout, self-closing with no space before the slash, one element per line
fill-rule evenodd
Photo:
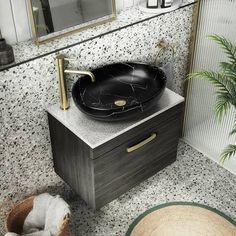
<path fill-rule="evenodd" d="M 183 103 L 92 149 L 48 114 L 56 173 L 93 209 L 176 160 Z M 128 153 L 127 147 L 157 137 Z"/>

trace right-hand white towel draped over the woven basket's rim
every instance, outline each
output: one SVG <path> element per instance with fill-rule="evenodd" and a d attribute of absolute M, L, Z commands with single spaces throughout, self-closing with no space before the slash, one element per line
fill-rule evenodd
<path fill-rule="evenodd" d="M 47 210 L 44 230 L 49 230 L 52 236 L 57 235 L 67 214 L 70 214 L 69 205 L 60 196 L 56 196 Z"/>

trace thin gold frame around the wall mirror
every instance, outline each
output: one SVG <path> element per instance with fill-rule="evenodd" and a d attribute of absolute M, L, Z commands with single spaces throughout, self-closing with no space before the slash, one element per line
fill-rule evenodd
<path fill-rule="evenodd" d="M 52 33 L 53 35 L 50 37 L 49 35 L 45 35 L 45 36 L 41 36 L 39 37 L 38 35 L 38 32 L 37 32 L 37 28 L 36 28 L 36 23 L 35 23 L 35 19 L 34 19 L 34 13 L 33 13 L 33 4 L 32 4 L 32 1 L 33 0 L 28 0 L 28 6 L 29 6 L 29 15 L 30 15 L 30 23 L 31 23 L 31 29 L 32 29 L 32 33 L 33 33 L 33 41 L 35 42 L 36 45 L 40 45 L 40 44 L 43 44 L 43 43 L 47 43 L 49 41 L 52 41 L 54 39 L 59 39 L 59 38 L 62 38 L 62 37 L 65 37 L 65 36 L 68 36 L 68 35 L 71 35 L 73 33 L 76 33 L 76 32 L 81 32 L 81 31 L 84 31 L 84 30 L 87 30 L 87 29 L 90 29 L 92 27 L 95 27 L 95 26 L 98 26 L 98 25 L 101 25 L 101 24 L 105 24 L 105 23 L 108 23 L 108 22 L 111 22 L 113 20 L 115 20 L 117 18 L 117 12 L 116 12 L 116 1 L 115 0 L 111 0 L 112 2 L 112 13 L 111 13 L 111 17 L 109 17 L 108 19 L 103 19 L 102 18 L 98 18 L 96 20 L 92 20 L 91 22 L 92 23 L 89 23 L 90 21 L 88 22 L 85 22 L 85 23 L 82 23 L 81 27 L 78 25 L 75 25 L 75 26 L 72 26 L 70 28 L 74 28 L 74 27 L 78 27 L 76 29 L 72 29 L 72 30 L 68 30 L 66 31 L 67 29 L 64 29 L 62 31 L 58 31 L 58 32 L 54 32 Z M 108 15 L 109 16 L 109 15 Z M 94 22 L 96 21 L 96 22 Z M 86 24 L 83 26 L 83 24 Z M 64 32 L 66 31 L 66 32 Z M 61 32 L 61 33 L 60 33 Z M 54 35 L 58 33 L 57 35 Z M 40 39 L 42 37 L 48 37 L 48 38 L 43 38 L 43 39 Z"/>

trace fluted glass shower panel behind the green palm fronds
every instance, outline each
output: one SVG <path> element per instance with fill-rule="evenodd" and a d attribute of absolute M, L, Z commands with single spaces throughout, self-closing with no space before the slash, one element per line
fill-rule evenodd
<path fill-rule="evenodd" d="M 197 41 L 192 71 L 217 70 L 219 62 L 226 57 L 219 45 L 207 38 L 219 34 L 236 43 L 236 0 L 202 0 Z M 229 137 L 233 127 L 234 110 L 221 123 L 214 114 L 213 87 L 205 80 L 193 79 L 189 84 L 184 140 L 216 162 L 227 144 L 235 144 Z M 224 164 L 236 173 L 236 157 Z"/>

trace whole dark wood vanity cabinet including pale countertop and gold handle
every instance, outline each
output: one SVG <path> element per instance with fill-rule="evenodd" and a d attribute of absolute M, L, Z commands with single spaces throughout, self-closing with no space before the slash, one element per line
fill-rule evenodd
<path fill-rule="evenodd" d="M 99 209 L 176 160 L 183 100 L 166 89 L 151 113 L 119 123 L 90 120 L 73 103 L 49 107 L 56 173 Z"/>

